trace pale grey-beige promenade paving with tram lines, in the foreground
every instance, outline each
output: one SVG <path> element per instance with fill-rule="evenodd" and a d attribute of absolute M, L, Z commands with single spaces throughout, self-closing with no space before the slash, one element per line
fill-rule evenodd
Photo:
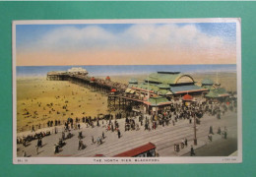
<path fill-rule="evenodd" d="M 139 118 L 136 117 L 135 123 L 139 124 Z M 189 123 L 189 120 L 182 119 L 175 122 L 175 125 L 169 124 L 168 126 L 158 126 L 156 130 L 144 130 L 144 126 L 140 126 L 139 130 L 136 131 L 124 131 L 125 119 L 117 119 L 119 124 L 119 130 L 121 132 L 121 138 L 118 139 L 117 132 L 106 131 L 105 125 L 106 121 L 99 121 L 99 126 L 87 127 L 85 123 L 81 124 L 80 130 L 71 130 L 71 133 L 74 136 L 71 139 L 65 140 L 66 145 L 61 148 L 59 153 L 54 154 L 54 145 L 58 143 L 59 139 L 62 136 L 62 131 L 64 126 L 57 127 L 58 133 L 54 133 L 54 127 L 46 128 L 49 129 L 53 134 L 42 139 L 42 148 L 38 148 L 38 154 L 36 152 L 36 143 L 34 140 L 27 147 L 24 147 L 22 144 L 18 144 L 18 156 L 22 156 L 23 150 L 26 151 L 27 156 L 80 156 L 80 157 L 89 157 L 95 156 L 96 154 L 102 154 L 104 156 L 113 156 L 120 152 L 129 150 L 131 148 L 137 148 L 142 145 L 145 145 L 149 142 L 153 143 L 157 147 L 157 152 L 160 156 L 181 156 L 188 154 L 190 150 L 190 145 L 193 144 L 194 139 L 194 127 Z M 213 136 L 213 142 L 208 140 L 209 128 L 213 126 L 215 135 Z M 222 119 L 217 119 L 216 116 L 204 115 L 201 118 L 201 124 L 197 125 L 197 139 L 198 145 L 193 146 L 195 151 L 198 148 L 204 148 L 210 146 L 211 144 L 215 145 L 214 142 L 223 139 L 221 135 L 217 134 L 217 130 L 221 127 L 222 131 L 224 126 L 227 128 L 227 139 L 231 137 L 237 141 L 237 114 L 234 112 L 227 111 Z M 45 130 L 46 130 L 45 129 Z M 83 144 L 87 146 L 84 149 L 78 149 L 79 139 L 78 132 L 82 131 L 84 138 L 82 139 Z M 102 136 L 104 133 L 105 139 L 102 140 L 101 145 L 92 143 L 92 136 L 96 141 L 97 137 Z M 23 134 L 28 134 L 30 132 L 24 132 Z M 67 133 L 66 133 L 67 134 Z M 20 134 L 21 135 L 21 134 Z M 188 140 L 188 147 L 182 148 L 179 152 L 174 151 L 174 144 L 180 144 L 183 139 Z M 222 144 L 222 141 L 219 141 Z M 222 147 L 222 145 L 218 146 Z M 221 154 L 221 152 L 220 152 Z M 207 155 L 207 151 L 204 153 Z M 218 156 L 218 154 L 217 154 Z"/>

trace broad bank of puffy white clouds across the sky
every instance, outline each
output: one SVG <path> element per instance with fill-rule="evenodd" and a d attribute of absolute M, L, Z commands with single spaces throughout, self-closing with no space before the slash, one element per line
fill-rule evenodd
<path fill-rule="evenodd" d="M 210 36 L 193 25 L 133 25 L 123 32 L 113 33 L 90 26 L 84 29 L 65 27 L 54 29 L 41 38 L 28 43 L 34 50 L 92 50 L 139 49 L 145 47 L 164 49 L 223 50 L 235 49 L 234 43 L 220 36 Z"/>

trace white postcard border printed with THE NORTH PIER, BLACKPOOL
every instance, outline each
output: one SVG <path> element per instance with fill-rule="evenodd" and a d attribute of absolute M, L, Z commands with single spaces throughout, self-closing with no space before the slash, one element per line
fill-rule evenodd
<path fill-rule="evenodd" d="M 18 157 L 16 92 L 16 26 L 70 24 L 156 24 L 156 23 L 236 23 L 237 74 L 237 156 L 211 157 Z M 242 89 L 241 89 L 241 19 L 127 19 L 127 20 L 22 20 L 12 24 L 13 59 L 13 163 L 14 164 L 162 164 L 162 163 L 240 163 L 242 162 Z"/>

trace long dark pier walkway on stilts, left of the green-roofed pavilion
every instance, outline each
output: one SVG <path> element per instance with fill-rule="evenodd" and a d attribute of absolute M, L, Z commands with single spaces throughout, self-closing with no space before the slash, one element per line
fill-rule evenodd
<path fill-rule="evenodd" d="M 95 77 L 89 77 L 87 74 L 68 73 L 68 72 L 49 72 L 47 73 L 48 81 L 69 81 L 73 84 L 85 86 L 92 91 L 99 91 L 108 94 L 107 105 L 109 110 L 131 109 L 133 106 L 143 105 L 144 100 L 128 96 L 124 92 L 128 85 L 110 81 L 110 77 L 105 80 Z M 137 110 L 139 111 L 139 110 Z"/>

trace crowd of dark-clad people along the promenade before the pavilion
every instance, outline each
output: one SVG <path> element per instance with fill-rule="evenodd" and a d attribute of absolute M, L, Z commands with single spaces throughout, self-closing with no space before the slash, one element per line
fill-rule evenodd
<path fill-rule="evenodd" d="M 145 131 L 152 131 L 158 129 L 158 127 L 164 127 L 169 126 L 172 124 L 172 126 L 175 126 L 175 124 L 179 120 L 188 120 L 189 124 L 192 124 L 193 121 L 196 121 L 196 124 L 200 124 L 201 118 L 204 116 L 204 114 L 208 114 L 211 116 L 216 116 L 217 119 L 221 119 L 222 116 L 225 114 L 227 110 L 236 111 L 236 107 L 233 103 L 226 103 L 226 102 L 213 102 L 211 100 L 201 103 L 194 103 L 190 104 L 190 106 L 186 106 L 185 104 L 180 104 L 177 102 L 174 102 L 170 104 L 168 107 L 165 107 L 163 110 L 158 110 L 157 112 L 151 112 L 151 114 L 139 114 L 138 116 L 138 122 L 136 119 L 136 116 L 129 116 L 129 114 L 125 114 L 125 124 L 124 124 L 124 131 L 138 131 L 141 128 Z M 112 132 L 117 134 L 117 138 L 121 138 L 121 131 L 119 129 L 119 119 L 122 118 L 124 114 L 122 113 L 116 113 L 113 114 L 107 114 L 103 115 L 101 118 L 95 117 L 92 118 L 89 117 L 82 117 L 81 119 L 76 118 L 68 118 L 66 122 L 64 122 L 64 129 L 61 133 L 61 138 L 59 138 L 59 141 L 57 144 L 54 145 L 54 153 L 59 153 L 61 151 L 61 148 L 63 148 L 66 145 L 66 140 L 71 139 L 74 135 L 71 133 L 74 130 L 80 130 L 81 127 L 86 128 L 95 128 L 96 127 L 103 127 L 102 134 L 100 136 L 96 136 L 96 141 L 94 139 L 95 135 L 92 136 L 92 145 L 96 144 L 97 146 L 100 146 L 105 141 L 105 135 L 104 131 L 106 132 Z M 27 144 L 33 140 L 37 140 L 36 144 L 36 152 L 38 154 L 38 148 L 42 147 L 42 139 L 45 136 L 50 136 L 51 134 L 58 134 L 57 126 L 61 126 L 60 121 L 48 121 L 47 123 L 48 127 L 54 126 L 55 129 L 53 132 L 41 131 L 40 133 L 35 133 L 34 128 L 32 127 L 32 132 L 34 134 L 28 135 L 26 137 L 17 138 L 17 144 L 23 144 L 24 147 L 27 146 Z M 84 129 L 83 129 L 84 130 Z M 221 130 L 221 127 L 218 128 L 218 134 L 223 135 L 224 139 L 227 137 L 227 130 L 224 128 L 224 131 Z M 212 141 L 212 135 L 214 134 L 213 127 L 210 126 L 209 131 L 209 140 Z M 83 142 L 84 135 L 82 130 L 78 132 L 78 150 L 87 148 L 86 144 Z M 188 140 L 184 138 L 182 140 L 181 147 L 187 147 Z M 26 154 L 26 152 L 24 152 Z M 191 154 L 194 154 L 194 151 L 191 152 Z"/>

